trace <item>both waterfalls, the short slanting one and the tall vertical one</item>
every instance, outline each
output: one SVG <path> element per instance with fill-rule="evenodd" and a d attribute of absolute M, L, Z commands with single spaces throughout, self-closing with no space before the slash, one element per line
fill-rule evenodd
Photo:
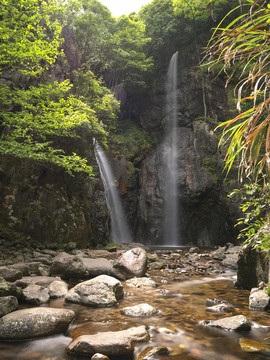
<path fill-rule="evenodd" d="M 166 81 L 166 135 L 163 143 L 163 173 L 165 179 L 162 245 L 180 246 L 178 228 L 178 182 L 177 182 L 177 113 L 178 113 L 178 52 L 170 61 Z M 95 156 L 103 182 L 107 207 L 111 217 L 111 240 L 115 243 L 132 242 L 132 235 L 121 204 L 117 182 L 105 152 L 94 141 Z"/>

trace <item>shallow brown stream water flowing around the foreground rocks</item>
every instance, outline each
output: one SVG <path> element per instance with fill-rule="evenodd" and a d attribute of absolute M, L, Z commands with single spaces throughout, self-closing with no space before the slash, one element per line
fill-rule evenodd
<path fill-rule="evenodd" d="M 163 276 L 164 274 L 164 276 Z M 152 276 L 158 284 L 155 289 L 125 286 L 125 297 L 118 307 L 94 309 L 63 300 L 51 301 L 51 307 L 65 307 L 76 312 L 76 320 L 66 336 L 27 342 L 0 342 L 0 360 L 77 360 L 65 353 L 65 347 L 82 334 L 102 331 L 117 331 L 131 326 L 147 325 L 150 328 L 151 343 L 165 345 L 170 360 L 263 360 L 270 359 L 269 353 L 246 353 L 239 345 L 240 338 L 257 340 L 270 347 L 270 313 L 248 309 L 249 291 L 235 289 L 235 275 L 201 277 L 187 281 L 172 281 L 166 272 Z M 235 306 L 234 313 L 213 313 L 206 309 L 208 298 L 226 300 Z M 120 309 L 146 302 L 159 310 L 157 316 L 141 319 L 120 314 Z M 207 329 L 199 325 L 200 320 L 218 319 L 243 314 L 253 322 L 249 332 L 226 332 Z M 136 349 L 139 351 L 139 349 Z M 85 358 L 84 358 L 85 359 Z"/>

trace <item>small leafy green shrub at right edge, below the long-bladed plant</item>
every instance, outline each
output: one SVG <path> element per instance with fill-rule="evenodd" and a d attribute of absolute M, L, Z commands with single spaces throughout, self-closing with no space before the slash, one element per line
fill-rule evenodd
<path fill-rule="evenodd" d="M 270 186 L 262 187 L 259 184 L 246 184 L 242 189 L 236 189 L 230 197 L 241 199 L 240 209 L 244 217 L 239 219 L 235 226 L 241 230 L 238 239 L 245 240 L 256 248 L 270 247 L 270 237 L 261 231 L 266 224 L 266 217 L 270 209 Z"/>

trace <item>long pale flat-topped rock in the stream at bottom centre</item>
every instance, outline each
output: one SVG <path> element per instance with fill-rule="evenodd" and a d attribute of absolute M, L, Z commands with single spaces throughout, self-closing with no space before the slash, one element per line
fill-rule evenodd
<path fill-rule="evenodd" d="M 84 356 L 92 356 L 95 353 L 109 357 L 131 356 L 136 344 L 149 341 L 149 339 L 146 327 L 138 326 L 128 330 L 79 336 L 69 344 L 67 352 Z"/>

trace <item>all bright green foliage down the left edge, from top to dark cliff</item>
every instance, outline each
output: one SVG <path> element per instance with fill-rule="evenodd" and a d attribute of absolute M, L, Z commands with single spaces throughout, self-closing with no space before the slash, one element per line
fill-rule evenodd
<path fill-rule="evenodd" d="M 86 159 L 72 150 L 65 153 L 61 138 L 76 138 L 83 127 L 105 142 L 99 117 L 115 119 L 117 102 L 91 73 L 88 93 L 94 91 L 88 103 L 72 95 L 69 81 L 48 79 L 46 70 L 60 45 L 61 28 L 55 19 L 62 9 L 54 0 L 4 0 L 0 9 L 0 76 L 8 75 L 8 81 L 0 78 L 0 153 L 92 176 Z"/>

